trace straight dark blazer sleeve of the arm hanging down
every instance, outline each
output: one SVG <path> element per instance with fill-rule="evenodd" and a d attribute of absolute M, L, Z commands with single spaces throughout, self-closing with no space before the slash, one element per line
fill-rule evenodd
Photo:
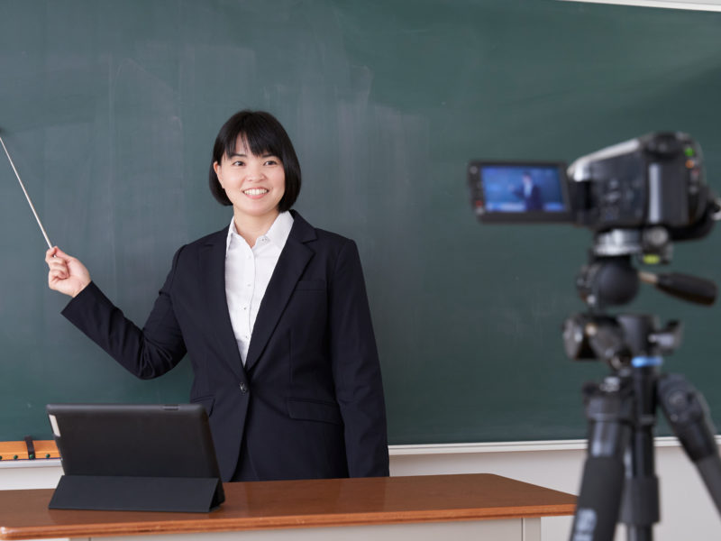
<path fill-rule="evenodd" d="M 356 244 L 342 246 L 329 283 L 333 380 L 351 477 L 388 475 L 383 383 Z"/>

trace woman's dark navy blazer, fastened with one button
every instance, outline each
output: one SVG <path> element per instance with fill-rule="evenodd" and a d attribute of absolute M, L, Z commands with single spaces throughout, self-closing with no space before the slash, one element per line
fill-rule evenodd
<path fill-rule="evenodd" d="M 181 247 L 145 326 L 94 283 L 63 315 L 140 378 L 188 353 L 224 481 L 388 475 L 383 387 L 355 243 L 297 213 L 243 367 L 225 300 L 227 228 Z"/>

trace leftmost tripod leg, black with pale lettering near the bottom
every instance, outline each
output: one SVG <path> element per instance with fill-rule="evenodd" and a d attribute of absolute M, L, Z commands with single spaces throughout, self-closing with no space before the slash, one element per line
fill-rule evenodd
<path fill-rule="evenodd" d="M 618 378 L 587 390 L 589 448 L 570 541 L 611 541 L 624 487 L 633 398 Z"/>

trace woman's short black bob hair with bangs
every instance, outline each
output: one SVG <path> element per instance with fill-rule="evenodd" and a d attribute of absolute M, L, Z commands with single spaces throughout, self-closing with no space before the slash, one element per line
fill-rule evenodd
<path fill-rule="evenodd" d="M 286 174 L 286 191 L 278 203 L 278 210 L 285 212 L 296 202 L 300 193 L 300 163 L 287 136 L 286 130 L 278 119 L 265 111 L 244 109 L 231 116 L 215 137 L 213 159 L 210 161 L 210 192 L 221 205 L 233 205 L 215 174 L 213 164 L 221 163 L 224 155 L 235 152 L 238 136 L 250 147 L 255 156 L 264 153 L 278 156 Z"/>

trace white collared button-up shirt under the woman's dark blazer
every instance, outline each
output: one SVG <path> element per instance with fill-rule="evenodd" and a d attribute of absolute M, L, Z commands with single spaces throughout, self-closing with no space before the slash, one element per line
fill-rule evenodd
<path fill-rule="evenodd" d="M 228 301 L 231 324 L 242 363 L 248 356 L 255 318 L 260 301 L 268 289 L 268 282 L 286 245 L 293 216 L 289 212 L 278 215 L 268 233 L 258 237 L 251 248 L 235 230 L 231 220 L 225 244 L 225 298 Z"/>

